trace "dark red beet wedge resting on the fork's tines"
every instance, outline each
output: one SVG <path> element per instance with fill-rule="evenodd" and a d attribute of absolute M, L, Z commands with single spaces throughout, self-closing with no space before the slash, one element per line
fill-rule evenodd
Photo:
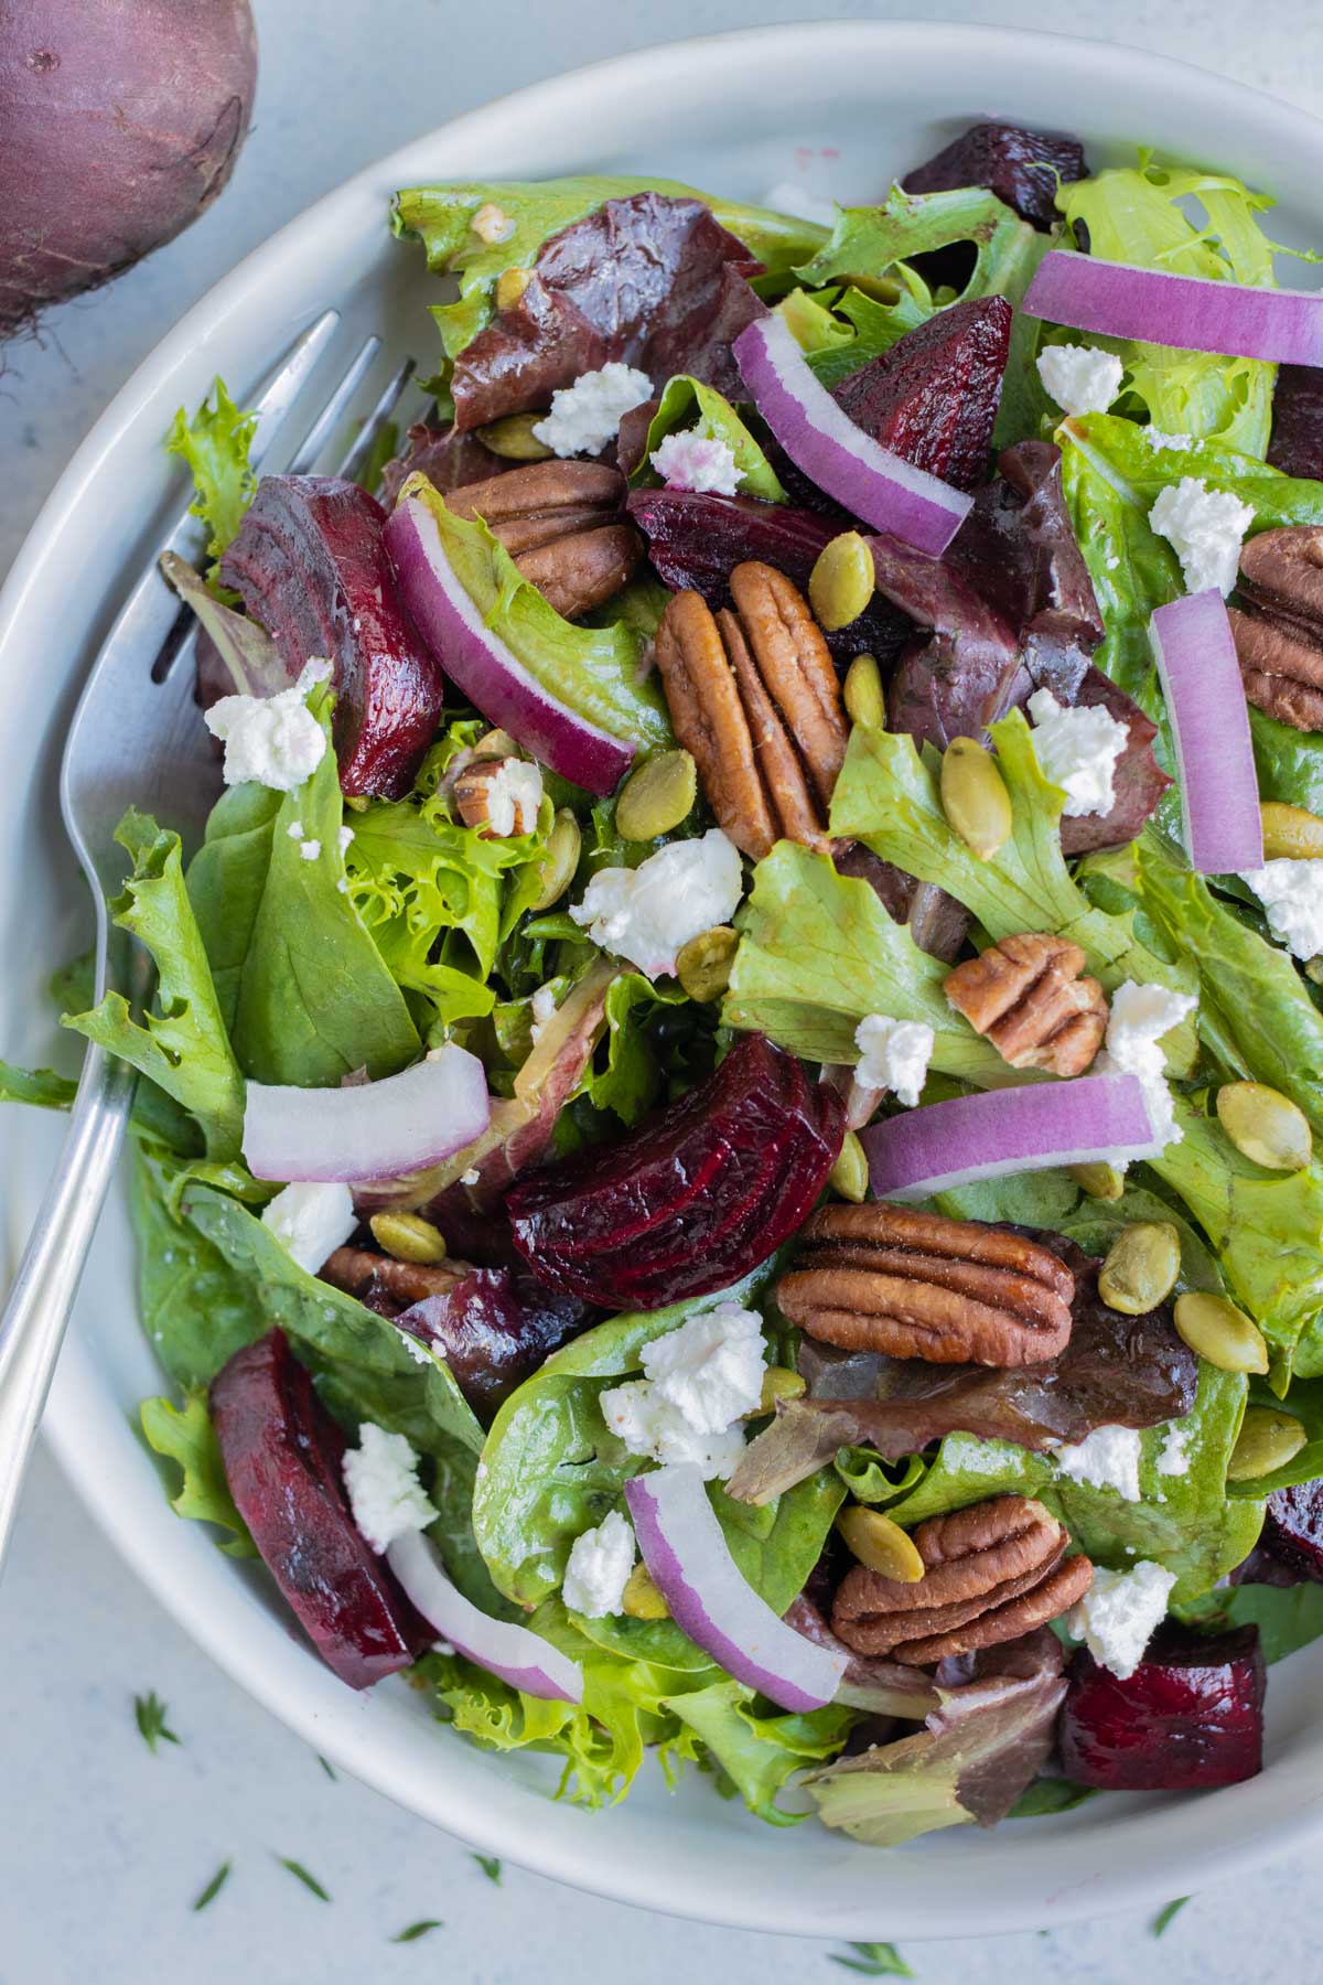
<path fill-rule="evenodd" d="M 444 697 L 383 546 L 385 510 L 357 482 L 264 476 L 220 562 L 296 681 L 309 655 L 335 669 L 335 756 L 347 794 L 409 792 Z"/>

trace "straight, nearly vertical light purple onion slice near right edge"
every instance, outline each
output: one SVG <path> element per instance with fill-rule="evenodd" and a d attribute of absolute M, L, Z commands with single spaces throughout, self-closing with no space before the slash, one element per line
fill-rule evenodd
<path fill-rule="evenodd" d="M 1172 721 L 1190 865 L 1200 875 L 1262 867 L 1250 711 L 1222 594 L 1210 588 L 1172 599 L 1148 625 Z"/>

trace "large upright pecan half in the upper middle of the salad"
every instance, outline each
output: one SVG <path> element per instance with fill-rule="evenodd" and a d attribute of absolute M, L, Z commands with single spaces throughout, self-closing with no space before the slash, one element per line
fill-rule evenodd
<path fill-rule="evenodd" d="M 803 594 L 772 566 L 730 574 L 736 611 L 674 594 L 657 629 L 670 721 L 708 806 L 746 856 L 782 836 L 825 850 L 827 804 L 845 760 L 831 655 Z"/>

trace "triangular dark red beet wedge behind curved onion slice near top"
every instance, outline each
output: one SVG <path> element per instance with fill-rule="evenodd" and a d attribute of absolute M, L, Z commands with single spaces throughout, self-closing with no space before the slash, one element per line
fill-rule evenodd
<path fill-rule="evenodd" d="M 1004 296 L 952 304 L 833 391 L 867 435 L 960 490 L 988 480 L 992 423 L 1010 353 Z"/>

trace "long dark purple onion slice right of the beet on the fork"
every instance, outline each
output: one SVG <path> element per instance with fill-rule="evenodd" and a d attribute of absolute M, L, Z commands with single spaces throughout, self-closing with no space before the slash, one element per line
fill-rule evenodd
<path fill-rule="evenodd" d="M 635 746 L 553 697 L 482 619 L 450 568 L 436 520 L 407 496 L 387 522 L 387 552 L 405 605 L 442 669 L 488 723 L 589 792 L 613 792 Z"/>

